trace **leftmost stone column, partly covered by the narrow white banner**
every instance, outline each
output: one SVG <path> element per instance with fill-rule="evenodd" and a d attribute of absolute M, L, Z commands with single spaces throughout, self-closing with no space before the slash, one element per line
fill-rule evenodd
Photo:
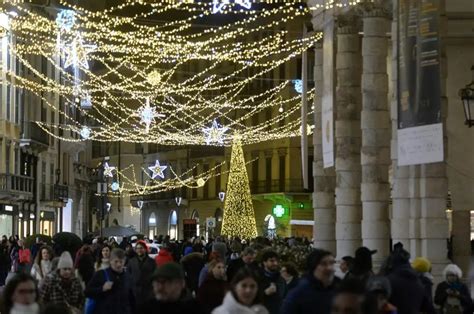
<path fill-rule="evenodd" d="M 336 177 L 334 167 L 324 169 L 321 138 L 322 86 L 323 86 L 323 49 L 322 44 L 315 46 L 314 83 L 317 86 L 314 99 L 313 133 L 313 209 L 314 209 L 314 246 L 336 253 L 334 187 Z"/>

